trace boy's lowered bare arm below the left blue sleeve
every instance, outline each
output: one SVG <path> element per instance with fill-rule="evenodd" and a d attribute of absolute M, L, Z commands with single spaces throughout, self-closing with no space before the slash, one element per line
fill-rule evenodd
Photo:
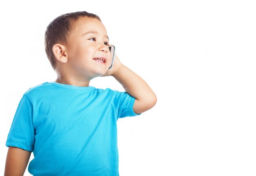
<path fill-rule="evenodd" d="M 4 176 L 23 176 L 30 155 L 31 151 L 10 146 L 6 157 Z"/>

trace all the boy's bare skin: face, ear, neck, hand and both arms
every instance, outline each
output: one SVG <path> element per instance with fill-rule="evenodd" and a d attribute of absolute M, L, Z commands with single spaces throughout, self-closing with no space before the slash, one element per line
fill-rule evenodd
<path fill-rule="evenodd" d="M 53 46 L 57 59 L 55 82 L 87 87 L 93 78 L 113 76 L 135 98 L 133 110 L 136 114 L 152 108 L 157 97 L 141 77 L 123 65 L 117 56 L 113 67 L 108 69 L 111 64 L 108 41 L 106 28 L 99 20 L 79 18 L 69 32 L 67 43 Z M 94 59 L 99 57 L 106 61 Z M 30 155 L 30 151 L 9 147 L 4 176 L 22 176 Z"/>

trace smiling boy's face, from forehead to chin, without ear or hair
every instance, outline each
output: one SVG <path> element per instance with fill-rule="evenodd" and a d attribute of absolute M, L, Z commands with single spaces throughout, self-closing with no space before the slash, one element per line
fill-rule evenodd
<path fill-rule="evenodd" d="M 108 71 L 111 54 L 104 25 L 96 18 L 79 18 L 67 38 L 67 56 L 72 74 L 89 80 Z"/>

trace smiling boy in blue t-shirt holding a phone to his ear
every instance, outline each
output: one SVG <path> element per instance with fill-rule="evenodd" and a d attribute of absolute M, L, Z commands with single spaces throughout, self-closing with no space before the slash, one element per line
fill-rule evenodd
<path fill-rule="evenodd" d="M 25 92 L 7 138 L 5 176 L 118 176 L 117 119 L 152 108 L 150 87 L 119 59 L 111 69 L 108 36 L 97 15 L 85 11 L 54 19 L 45 51 L 55 82 Z M 96 89 L 92 78 L 113 76 L 126 92 Z"/>

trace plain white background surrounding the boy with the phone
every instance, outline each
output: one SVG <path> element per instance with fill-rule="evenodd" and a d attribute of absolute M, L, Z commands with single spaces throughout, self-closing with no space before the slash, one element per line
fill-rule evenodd
<path fill-rule="evenodd" d="M 22 94 L 56 79 L 47 25 L 88 11 L 158 98 L 141 116 L 118 120 L 121 176 L 255 176 L 255 9 L 253 0 L 1 1 L 0 174 Z M 123 91 L 114 78 L 90 85 Z"/>

